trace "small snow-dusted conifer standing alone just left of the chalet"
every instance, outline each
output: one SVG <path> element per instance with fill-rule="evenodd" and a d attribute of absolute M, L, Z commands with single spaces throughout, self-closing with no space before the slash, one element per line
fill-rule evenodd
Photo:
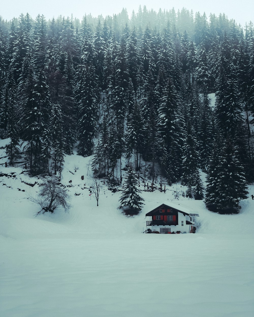
<path fill-rule="evenodd" d="M 142 208 L 144 199 L 139 195 L 141 190 L 138 187 L 137 174 L 132 165 L 128 168 L 126 178 L 123 184 L 122 195 L 120 196 L 120 208 L 128 215 L 136 215 Z"/>

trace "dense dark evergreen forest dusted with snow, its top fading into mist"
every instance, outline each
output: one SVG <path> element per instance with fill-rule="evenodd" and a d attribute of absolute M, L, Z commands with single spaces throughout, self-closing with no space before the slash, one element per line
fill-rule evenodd
<path fill-rule="evenodd" d="M 254 179 L 253 113 L 252 22 L 145 6 L 0 19 L 0 137 L 11 164 L 23 142 L 33 175 L 61 173 L 75 146 L 95 176 L 121 181 L 123 157 L 136 171 L 143 159 L 152 182 L 159 164 L 197 199 L 201 169 L 207 206 L 234 210 Z"/>

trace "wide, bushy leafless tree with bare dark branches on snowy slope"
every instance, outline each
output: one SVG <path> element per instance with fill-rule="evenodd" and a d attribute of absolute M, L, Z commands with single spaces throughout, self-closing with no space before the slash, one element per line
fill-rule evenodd
<path fill-rule="evenodd" d="M 43 214 L 47 211 L 53 213 L 59 206 L 62 206 L 65 212 L 69 211 L 71 207 L 69 204 L 70 196 L 57 178 L 52 177 L 45 181 L 41 187 L 37 197 L 29 197 L 32 202 L 41 206 L 41 210 L 36 213 L 36 216 L 41 212 Z"/>

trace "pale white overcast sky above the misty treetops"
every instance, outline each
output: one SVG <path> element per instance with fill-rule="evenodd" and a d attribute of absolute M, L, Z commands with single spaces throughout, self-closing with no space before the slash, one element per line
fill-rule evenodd
<path fill-rule="evenodd" d="M 144 4 L 147 9 L 181 9 L 183 7 L 193 10 L 194 13 L 204 12 L 208 17 L 210 13 L 225 13 L 229 19 L 234 18 L 237 23 L 245 25 L 245 22 L 254 22 L 254 1 L 252 0 L 0 0 L 0 15 L 7 20 L 12 17 L 18 17 L 21 13 L 27 12 L 34 18 L 38 14 L 43 14 L 46 19 L 56 18 L 60 14 L 62 16 L 70 16 L 79 19 L 85 13 L 91 13 L 92 16 L 112 15 L 119 13 L 122 8 L 126 8 L 130 16 L 132 10 L 137 12 L 139 4 L 143 8 Z"/>

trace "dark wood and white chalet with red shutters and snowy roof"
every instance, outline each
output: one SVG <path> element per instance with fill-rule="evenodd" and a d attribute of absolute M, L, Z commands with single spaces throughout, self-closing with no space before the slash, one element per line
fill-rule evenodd
<path fill-rule="evenodd" d="M 174 207 L 162 204 L 157 208 L 148 212 L 145 216 L 150 217 L 150 221 L 146 222 L 146 226 L 150 227 L 152 231 L 159 231 L 159 233 L 172 233 L 180 231 L 181 233 L 193 232 L 193 217 L 198 216 L 187 212 L 185 208 L 179 205 Z"/>

